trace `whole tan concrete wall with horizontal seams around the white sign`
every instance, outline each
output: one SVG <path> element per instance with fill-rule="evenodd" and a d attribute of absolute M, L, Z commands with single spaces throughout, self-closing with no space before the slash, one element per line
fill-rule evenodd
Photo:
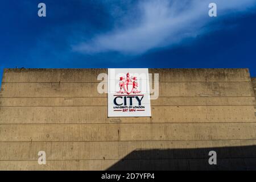
<path fill-rule="evenodd" d="M 103 170 L 120 161 L 129 169 L 256 169 L 255 148 L 222 152 L 217 167 L 208 164 L 212 148 L 256 144 L 255 90 L 247 69 L 149 69 L 160 81 L 151 118 L 107 117 L 107 96 L 97 92 L 97 75 L 106 72 L 5 69 L 0 169 Z M 37 162 L 40 150 L 46 165 Z M 134 155 L 141 150 L 158 152 Z"/>

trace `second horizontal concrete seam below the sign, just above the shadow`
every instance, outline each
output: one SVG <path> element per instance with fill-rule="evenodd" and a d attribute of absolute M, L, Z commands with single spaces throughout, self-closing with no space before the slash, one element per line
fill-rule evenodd
<path fill-rule="evenodd" d="M 193 142 L 193 141 L 230 141 L 230 140 L 240 140 L 240 141 L 249 141 L 255 139 L 195 139 L 195 140 L 48 140 L 48 141 L 40 141 L 40 140 L 26 140 L 26 141 L 0 141 L 0 143 L 47 143 L 47 142 Z"/>

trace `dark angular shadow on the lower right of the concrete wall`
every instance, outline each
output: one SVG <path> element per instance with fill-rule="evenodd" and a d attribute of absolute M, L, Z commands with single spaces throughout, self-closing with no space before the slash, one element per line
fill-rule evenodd
<path fill-rule="evenodd" d="M 135 150 L 106 170 L 256 170 L 256 146 Z"/>

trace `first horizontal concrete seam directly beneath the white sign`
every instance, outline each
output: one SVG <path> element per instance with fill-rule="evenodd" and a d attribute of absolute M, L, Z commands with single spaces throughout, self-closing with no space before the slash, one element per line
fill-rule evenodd
<path fill-rule="evenodd" d="M 148 124 L 211 124 L 211 123 L 221 123 L 221 124 L 232 124 L 232 123 L 256 123 L 255 122 L 143 122 L 143 123 L 139 123 L 139 122 L 135 122 L 135 123 L 123 123 L 123 122 L 118 122 L 118 121 L 113 121 L 110 123 L 0 123 L 1 125 L 122 125 L 122 124 L 144 124 L 144 125 L 148 125 Z"/>

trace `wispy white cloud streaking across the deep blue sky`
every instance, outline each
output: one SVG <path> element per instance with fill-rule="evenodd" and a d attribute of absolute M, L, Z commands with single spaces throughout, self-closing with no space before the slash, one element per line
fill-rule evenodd
<path fill-rule="evenodd" d="M 139 1 L 129 6 L 130 14 L 119 16 L 118 11 L 113 14 L 114 20 L 123 20 L 122 27 L 96 35 L 88 42 L 73 46 L 73 49 L 85 53 L 117 51 L 140 54 L 172 46 L 184 38 L 204 33 L 203 27 L 214 19 L 208 16 L 210 2 L 217 4 L 219 17 L 234 12 L 244 13 L 255 6 L 256 0 Z"/>

